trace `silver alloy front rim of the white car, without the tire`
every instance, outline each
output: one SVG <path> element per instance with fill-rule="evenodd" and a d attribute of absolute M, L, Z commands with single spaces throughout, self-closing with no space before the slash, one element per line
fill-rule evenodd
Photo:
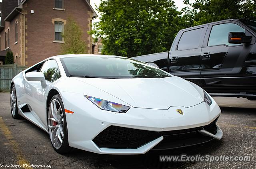
<path fill-rule="evenodd" d="M 60 102 L 53 99 L 48 111 L 48 130 L 52 145 L 59 149 L 64 137 L 63 111 Z"/>

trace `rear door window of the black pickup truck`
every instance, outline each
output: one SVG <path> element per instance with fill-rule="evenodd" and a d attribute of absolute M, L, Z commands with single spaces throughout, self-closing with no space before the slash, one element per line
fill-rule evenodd
<path fill-rule="evenodd" d="M 186 50 L 198 48 L 202 31 L 203 28 L 185 31 L 180 37 L 177 49 Z"/>

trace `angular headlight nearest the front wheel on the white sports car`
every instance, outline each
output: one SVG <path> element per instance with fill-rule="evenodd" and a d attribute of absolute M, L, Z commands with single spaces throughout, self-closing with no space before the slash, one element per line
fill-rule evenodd
<path fill-rule="evenodd" d="M 107 100 L 102 100 L 100 98 L 95 98 L 95 97 L 86 96 L 86 95 L 84 95 L 84 96 L 86 98 L 88 98 L 88 100 L 90 100 L 93 104 L 95 104 L 96 106 L 98 106 L 98 108 L 100 108 L 102 110 L 108 110 L 111 112 L 118 112 L 118 113 L 126 113 L 130 108 L 128 106 L 124 106 L 122 104 L 110 102 Z"/>

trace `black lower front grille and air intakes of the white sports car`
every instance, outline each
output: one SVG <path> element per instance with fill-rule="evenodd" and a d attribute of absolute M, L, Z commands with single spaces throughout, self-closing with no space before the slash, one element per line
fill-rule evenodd
<path fill-rule="evenodd" d="M 133 128 L 124 128 L 119 126 L 109 126 L 100 134 L 98 134 L 92 141 L 100 148 L 138 148 L 156 138 L 164 136 L 164 140 L 161 143 L 179 142 L 180 145 L 184 140 L 191 140 L 197 137 L 201 138 L 201 134 L 198 133 L 200 130 L 207 130 L 212 134 L 216 134 L 216 120 L 211 124 L 202 127 L 184 129 L 184 130 L 172 130 L 164 132 L 153 132 L 148 130 L 138 130 Z M 202 136 L 202 141 L 212 140 L 212 138 L 207 136 Z M 198 140 L 196 138 L 196 140 Z M 194 140 L 196 144 L 196 140 Z M 191 142 L 191 141 L 190 141 Z M 191 145 L 191 144 L 190 144 Z M 178 146 L 178 145 L 177 145 Z M 176 146 L 176 147 L 177 147 Z"/>

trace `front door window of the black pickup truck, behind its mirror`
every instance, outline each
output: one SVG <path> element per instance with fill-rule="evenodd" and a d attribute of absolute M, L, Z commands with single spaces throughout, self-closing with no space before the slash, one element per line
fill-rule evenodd
<path fill-rule="evenodd" d="M 238 26 L 237 24 L 220 24 L 212 26 L 210 37 L 208 40 L 208 46 L 212 45 L 238 45 L 228 43 L 228 33 L 229 32 L 245 32 L 245 29 Z"/>

